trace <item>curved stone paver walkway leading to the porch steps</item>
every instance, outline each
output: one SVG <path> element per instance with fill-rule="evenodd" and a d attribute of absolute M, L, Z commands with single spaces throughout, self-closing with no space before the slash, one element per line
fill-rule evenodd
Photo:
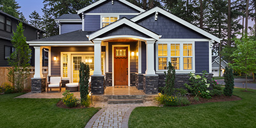
<path fill-rule="evenodd" d="M 128 128 L 128 120 L 134 108 L 139 106 L 157 106 L 155 102 L 145 102 L 143 104 L 107 104 L 99 103 L 94 106 L 104 106 L 86 124 L 85 128 Z"/>

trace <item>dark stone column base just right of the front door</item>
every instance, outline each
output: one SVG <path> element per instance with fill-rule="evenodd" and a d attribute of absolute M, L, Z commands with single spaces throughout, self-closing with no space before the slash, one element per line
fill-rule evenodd
<path fill-rule="evenodd" d="M 146 94 L 158 93 L 158 75 L 143 75 L 143 92 Z"/>

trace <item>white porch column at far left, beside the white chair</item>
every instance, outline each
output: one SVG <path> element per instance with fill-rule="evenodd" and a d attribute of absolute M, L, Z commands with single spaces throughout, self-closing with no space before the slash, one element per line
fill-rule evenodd
<path fill-rule="evenodd" d="M 43 77 L 42 74 L 42 49 L 40 46 L 35 46 L 35 78 Z"/>

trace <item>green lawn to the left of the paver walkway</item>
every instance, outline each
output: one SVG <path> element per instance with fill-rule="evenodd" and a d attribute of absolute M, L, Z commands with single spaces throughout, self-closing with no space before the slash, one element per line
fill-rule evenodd
<path fill-rule="evenodd" d="M 0 127 L 84 127 L 97 108 L 63 109 L 60 99 L 13 99 L 22 93 L 0 95 Z"/>

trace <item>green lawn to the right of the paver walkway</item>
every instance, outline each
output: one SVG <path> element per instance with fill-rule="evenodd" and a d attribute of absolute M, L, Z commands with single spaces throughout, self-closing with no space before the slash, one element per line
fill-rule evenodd
<path fill-rule="evenodd" d="M 256 90 L 234 95 L 242 100 L 184 107 L 140 107 L 132 111 L 129 127 L 256 127 Z"/>

